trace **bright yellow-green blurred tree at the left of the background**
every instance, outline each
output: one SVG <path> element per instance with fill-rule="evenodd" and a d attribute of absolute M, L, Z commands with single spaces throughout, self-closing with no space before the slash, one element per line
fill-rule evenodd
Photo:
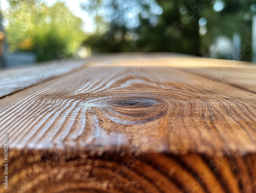
<path fill-rule="evenodd" d="M 65 3 L 48 6 L 43 1 L 11 0 L 5 12 L 11 51 L 34 51 L 38 61 L 70 57 L 86 35 L 82 20 Z"/>

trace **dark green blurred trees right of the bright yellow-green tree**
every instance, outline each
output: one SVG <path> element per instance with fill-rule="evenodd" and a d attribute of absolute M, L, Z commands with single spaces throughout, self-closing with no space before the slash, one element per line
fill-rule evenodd
<path fill-rule="evenodd" d="M 94 52 L 207 56 L 217 37 L 232 41 L 236 33 L 242 42 L 233 59 L 251 59 L 251 49 L 243 47 L 251 47 L 256 0 L 88 0 L 82 7 L 95 17 L 98 27 L 96 35 L 84 41 Z"/>

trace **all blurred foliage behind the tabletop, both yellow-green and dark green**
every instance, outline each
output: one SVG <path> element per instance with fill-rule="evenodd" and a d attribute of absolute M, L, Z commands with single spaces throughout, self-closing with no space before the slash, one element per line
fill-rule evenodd
<path fill-rule="evenodd" d="M 214 9 L 216 3 L 225 6 Z M 5 13 L 11 50 L 31 50 L 38 61 L 72 56 L 83 41 L 93 52 L 179 52 L 207 56 L 217 37 L 239 34 L 251 42 L 256 0 L 88 0 L 82 4 L 97 30 L 89 38 L 81 19 L 63 3 L 49 7 L 40 0 L 10 0 Z M 254 11 L 251 9 L 254 6 Z M 206 20 L 200 26 L 200 19 Z M 204 33 L 202 33 L 202 29 Z M 201 31 L 200 31 L 201 30 Z M 251 45 L 247 45 L 251 46 Z M 251 59 L 251 50 L 242 51 Z M 225 56 L 224 56 L 225 57 Z"/>

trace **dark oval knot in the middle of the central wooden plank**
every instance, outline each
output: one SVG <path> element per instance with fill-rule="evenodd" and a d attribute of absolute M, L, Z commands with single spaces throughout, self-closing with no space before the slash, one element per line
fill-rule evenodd
<path fill-rule="evenodd" d="M 92 110 L 103 127 L 134 127 L 145 123 L 155 125 L 168 112 L 164 98 L 151 94 L 123 94 L 94 101 Z"/>

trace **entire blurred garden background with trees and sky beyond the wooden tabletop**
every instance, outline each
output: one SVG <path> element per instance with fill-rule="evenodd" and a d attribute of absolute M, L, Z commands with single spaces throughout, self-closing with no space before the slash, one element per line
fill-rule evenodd
<path fill-rule="evenodd" d="M 2 68 L 98 53 L 256 61 L 256 0 L 1 0 Z"/>

